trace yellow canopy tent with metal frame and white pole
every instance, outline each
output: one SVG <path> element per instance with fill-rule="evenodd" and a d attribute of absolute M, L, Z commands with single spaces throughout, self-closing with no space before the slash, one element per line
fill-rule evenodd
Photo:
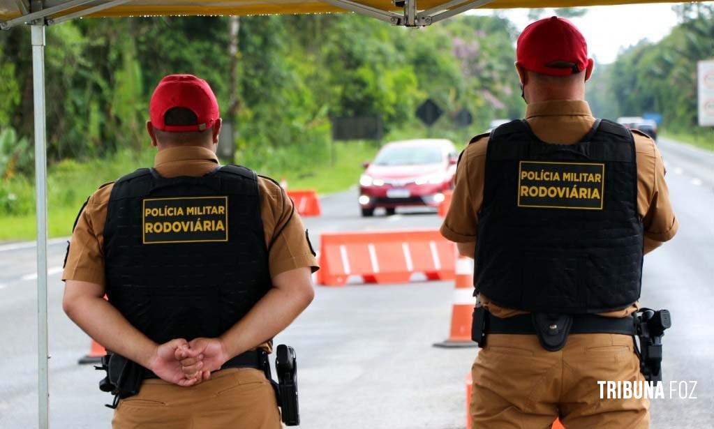
<path fill-rule="evenodd" d="M 671 0 L 0 0 L 0 29 L 7 30 L 21 24 L 31 25 L 37 218 L 39 428 L 49 428 L 45 26 L 84 16 L 316 14 L 354 11 L 393 25 L 416 27 L 428 26 L 478 7 L 515 9 L 660 2 Z"/>

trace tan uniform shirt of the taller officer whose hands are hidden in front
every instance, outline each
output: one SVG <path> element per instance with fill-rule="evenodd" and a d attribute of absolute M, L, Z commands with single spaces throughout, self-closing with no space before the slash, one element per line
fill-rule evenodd
<path fill-rule="evenodd" d="M 595 123 L 590 106 L 585 101 L 544 101 L 528 104 L 526 121 L 540 140 L 548 143 L 574 144 L 580 141 Z M 643 134 L 634 133 L 637 152 L 638 196 L 637 208 L 645 237 L 654 241 L 668 241 L 677 232 L 675 218 L 665 183 L 665 168 L 655 142 Z M 484 168 L 488 136 L 474 141 L 463 152 L 456 169 L 456 188 L 451 208 L 441 226 L 441 234 L 456 243 L 476 242 L 478 212 L 483 203 Z M 481 303 L 494 316 L 508 317 L 522 311 L 501 308 L 481 295 Z M 607 316 L 626 316 L 636 304 L 622 311 L 605 313 Z"/>

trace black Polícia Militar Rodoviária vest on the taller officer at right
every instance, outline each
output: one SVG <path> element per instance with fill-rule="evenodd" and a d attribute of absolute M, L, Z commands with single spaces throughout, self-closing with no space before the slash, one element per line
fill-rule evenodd
<path fill-rule="evenodd" d="M 488 140 L 474 285 L 507 308 L 600 313 L 640 297 L 643 226 L 635 143 L 596 121 L 574 145 L 540 141 L 526 121 Z"/>

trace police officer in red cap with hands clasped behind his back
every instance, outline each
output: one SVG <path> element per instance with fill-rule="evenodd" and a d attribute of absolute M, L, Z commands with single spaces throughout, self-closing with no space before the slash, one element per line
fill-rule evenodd
<path fill-rule="evenodd" d="M 109 351 L 115 429 L 281 428 L 267 355 L 313 298 L 303 223 L 277 183 L 219 165 L 206 81 L 166 76 L 150 116 L 154 167 L 79 213 L 64 311 Z"/>

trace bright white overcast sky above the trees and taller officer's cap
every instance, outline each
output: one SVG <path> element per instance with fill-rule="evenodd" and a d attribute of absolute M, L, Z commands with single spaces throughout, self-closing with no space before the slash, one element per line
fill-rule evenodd
<path fill-rule="evenodd" d="M 588 41 L 588 53 L 602 64 L 615 60 L 623 47 L 637 44 L 642 39 L 659 41 L 677 25 L 673 3 L 624 4 L 620 6 L 588 7 L 582 18 L 573 18 L 573 24 L 583 32 Z M 543 18 L 553 15 L 546 9 Z M 493 14 L 493 9 L 473 11 L 475 14 Z M 528 9 L 499 11 L 516 24 L 519 30 L 528 25 Z"/>

